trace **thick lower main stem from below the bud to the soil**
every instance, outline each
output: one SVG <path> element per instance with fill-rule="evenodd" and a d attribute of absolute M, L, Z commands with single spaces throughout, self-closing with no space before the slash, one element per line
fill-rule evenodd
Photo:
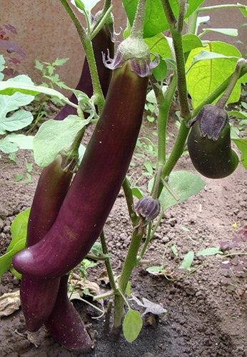
<path fill-rule="evenodd" d="M 143 223 L 143 221 L 139 220 L 140 225 Z M 119 289 L 121 290 L 121 293 L 124 295 L 126 292 L 126 287 L 129 281 L 129 278 L 131 276 L 131 273 L 133 271 L 133 268 L 138 264 L 138 250 L 141 246 L 141 240 L 143 238 L 144 230 L 143 228 L 140 229 L 136 227 L 136 229 L 133 231 L 133 235 L 131 238 L 131 243 L 128 248 L 128 253 L 126 256 L 126 259 L 124 261 L 124 267 L 121 271 L 121 276 L 119 278 Z M 114 322 L 113 326 L 111 328 L 111 336 L 113 338 L 116 338 L 119 336 L 119 333 L 121 332 L 121 326 L 122 326 L 122 321 L 123 321 L 123 316 L 124 316 L 124 298 L 121 296 L 121 293 L 116 293 L 115 298 L 114 298 Z"/>

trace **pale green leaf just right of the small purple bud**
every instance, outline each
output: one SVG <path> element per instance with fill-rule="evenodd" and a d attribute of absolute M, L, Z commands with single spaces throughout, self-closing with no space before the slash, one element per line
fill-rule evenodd
<path fill-rule="evenodd" d="M 206 185 L 206 182 L 197 174 L 192 174 L 189 171 L 173 171 L 169 176 L 168 184 L 179 197 L 179 201 L 176 201 L 167 188 L 163 187 L 159 197 L 163 210 L 177 203 L 186 201 L 187 198 L 201 191 Z M 151 183 L 148 183 L 148 187 L 151 187 L 149 185 L 151 185 Z"/>

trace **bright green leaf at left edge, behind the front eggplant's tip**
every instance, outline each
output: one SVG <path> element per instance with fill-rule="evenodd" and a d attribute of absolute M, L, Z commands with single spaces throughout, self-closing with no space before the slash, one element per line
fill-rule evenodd
<path fill-rule="evenodd" d="M 11 260 L 13 256 L 25 248 L 29 213 L 30 208 L 19 213 L 11 224 L 12 239 L 6 253 L 0 257 L 0 278 L 5 271 L 8 271 L 11 268 Z"/>

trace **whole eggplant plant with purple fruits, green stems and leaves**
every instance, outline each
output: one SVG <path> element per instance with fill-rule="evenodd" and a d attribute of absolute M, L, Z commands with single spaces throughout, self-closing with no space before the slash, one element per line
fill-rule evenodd
<path fill-rule="evenodd" d="M 1 273 L 12 264 L 12 271 L 22 274 L 21 301 L 29 331 L 44 323 L 51 336 L 66 348 L 88 351 L 89 336 L 66 295 L 68 274 L 89 256 L 99 238 L 102 253 L 94 258 L 105 262 L 111 291 L 94 300 L 107 298 L 113 302 L 112 338 L 117 338 L 122 329 L 127 341 L 138 337 L 141 315 L 131 308 L 127 296 L 131 273 L 145 263 L 148 243 L 166 209 L 205 186 L 198 174 L 174 171 L 186 146 L 202 176 L 226 177 L 237 169 L 238 161 L 247 169 L 247 141 L 234 139 L 242 154 L 231 149 L 231 112 L 227 111 L 227 104 L 238 101 L 241 83 L 247 81 L 247 63 L 236 47 L 203 41 L 206 30 L 198 34 L 198 15 L 220 7 L 203 7 L 203 0 L 123 0 L 128 26 L 113 59 L 114 34 L 109 37 L 106 32 L 112 26 L 111 1 L 105 0 L 104 8 L 95 16 L 91 16 L 91 1 L 71 1 L 76 7 L 66 0 L 60 2 L 74 21 L 86 54 L 71 99 L 54 89 L 34 86 L 29 80 L 0 83 L 0 109 L 1 98 L 6 101 L 20 93 L 46 94 L 65 104 L 55 118 L 63 120 L 45 121 L 32 138 L 34 159 L 44 169 L 31 207 L 27 239 L 24 241 L 22 235 L 17 246 L 15 238 L 0 262 L 4 262 Z M 238 7 L 247 16 L 245 5 L 226 7 Z M 86 18 L 86 29 L 76 16 L 78 10 Z M 163 34 L 168 29 L 170 37 Z M 144 194 L 131 183 L 128 168 L 143 123 L 147 91 L 153 92 L 156 101 L 158 150 L 156 170 Z M 166 131 L 175 93 L 180 123 L 168 152 Z M 0 119 L 1 125 L 4 121 Z M 92 125 L 93 134 L 79 160 L 84 132 Z M 7 134 L 4 139 L 9 144 L 20 143 L 19 135 Z M 119 278 L 115 279 L 104 224 L 121 188 L 133 233 Z M 52 303 L 47 301 L 49 294 Z M 36 313 L 34 306 L 39 307 Z"/>

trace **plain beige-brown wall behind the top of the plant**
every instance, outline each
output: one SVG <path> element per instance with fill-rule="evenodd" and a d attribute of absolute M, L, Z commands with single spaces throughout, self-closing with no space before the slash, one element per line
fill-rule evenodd
<path fill-rule="evenodd" d="M 223 4 L 237 4 L 238 0 L 218 1 Z M 242 1 L 244 2 L 244 1 Z M 124 9 L 121 0 L 113 0 L 116 30 L 126 24 Z M 104 4 L 102 0 L 98 9 Z M 216 4 L 214 0 L 206 0 L 204 6 Z M 69 16 L 59 0 L 0 0 L 0 26 L 11 24 L 16 27 L 17 35 L 11 35 L 11 40 L 16 42 L 26 51 L 26 59 L 21 59 L 19 72 L 26 73 L 39 82 L 38 71 L 34 69 L 34 59 L 39 61 L 54 61 L 54 59 L 69 57 L 70 60 L 61 68 L 59 74 L 68 86 L 75 87 L 81 74 L 84 54 L 79 37 Z M 238 27 L 247 22 L 238 9 L 225 10 L 219 15 L 219 11 L 208 11 L 203 15 L 211 16 L 211 27 Z M 80 14 L 79 14 L 80 15 Z M 247 26 L 240 31 L 239 39 L 246 42 Z M 207 35 L 210 39 L 218 38 L 218 35 Z M 206 36 L 205 36 L 206 39 Z M 224 38 L 222 38 L 224 39 Z M 225 37 L 226 41 L 236 41 L 236 38 Z M 244 46 L 239 46 L 244 51 Z M 0 48 L 0 54 L 6 55 L 6 51 Z M 16 56 L 17 57 L 17 56 Z"/>

